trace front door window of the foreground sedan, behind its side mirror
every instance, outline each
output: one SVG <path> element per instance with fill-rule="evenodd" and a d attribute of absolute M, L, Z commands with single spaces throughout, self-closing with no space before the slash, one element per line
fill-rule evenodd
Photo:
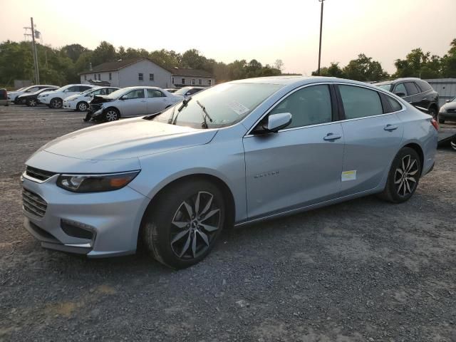
<path fill-rule="evenodd" d="M 276 113 L 291 113 L 291 123 L 286 128 L 330 123 L 332 110 L 329 87 L 319 85 L 297 90 L 270 112 Z"/>

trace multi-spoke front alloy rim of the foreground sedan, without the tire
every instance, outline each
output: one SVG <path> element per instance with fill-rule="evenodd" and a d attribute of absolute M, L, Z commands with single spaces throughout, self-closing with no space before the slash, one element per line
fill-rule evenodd
<path fill-rule="evenodd" d="M 172 252 L 181 259 L 204 253 L 220 228 L 220 208 L 209 192 L 198 192 L 180 204 L 171 222 Z"/>

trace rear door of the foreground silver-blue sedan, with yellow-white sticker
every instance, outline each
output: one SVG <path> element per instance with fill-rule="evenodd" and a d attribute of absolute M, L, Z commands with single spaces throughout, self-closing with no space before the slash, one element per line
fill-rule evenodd
<path fill-rule="evenodd" d="M 363 86 L 339 84 L 338 96 L 345 119 L 341 196 L 346 196 L 377 187 L 388 172 L 403 136 L 396 115 L 402 106 L 391 98 L 398 105 L 392 109 L 378 91 Z"/>

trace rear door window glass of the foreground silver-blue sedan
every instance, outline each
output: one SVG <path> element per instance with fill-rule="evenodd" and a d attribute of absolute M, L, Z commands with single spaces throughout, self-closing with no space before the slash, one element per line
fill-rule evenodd
<path fill-rule="evenodd" d="M 366 118 L 383 114 L 380 95 L 371 89 L 356 86 L 338 86 L 346 119 Z"/>

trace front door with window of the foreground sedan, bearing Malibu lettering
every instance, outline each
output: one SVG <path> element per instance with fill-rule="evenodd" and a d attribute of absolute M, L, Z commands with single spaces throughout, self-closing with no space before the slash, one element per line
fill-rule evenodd
<path fill-rule="evenodd" d="M 289 126 L 244 138 L 249 219 L 338 197 L 343 132 L 330 94 L 328 85 L 295 90 L 269 112 L 291 113 Z"/>

